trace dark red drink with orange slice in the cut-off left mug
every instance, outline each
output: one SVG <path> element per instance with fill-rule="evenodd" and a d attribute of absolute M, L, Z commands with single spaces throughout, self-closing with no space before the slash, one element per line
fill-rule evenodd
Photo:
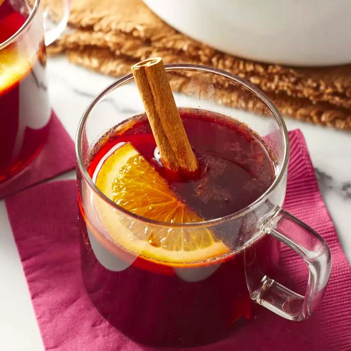
<path fill-rule="evenodd" d="M 0 43 L 15 34 L 26 19 L 5 0 L 0 6 Z M 31 50 L 23 50 L 30 40 L 29 34 L 21 34 L 0 50 L 0 182 L 26 166 L 48 135 L 45 46 L 36 43 L 28 46 Z"/>

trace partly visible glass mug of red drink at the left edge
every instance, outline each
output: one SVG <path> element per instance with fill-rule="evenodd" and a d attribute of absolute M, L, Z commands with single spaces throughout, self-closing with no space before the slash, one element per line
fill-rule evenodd
<path fill-rule="evenodd" d="M 0 4 L 0 186 L 5 187 L 47 139 L 51 108 L 45 46 L 66 27 L 69 0 L 62 0 L 60 14 L 44 9 L 40 0 Z"/>

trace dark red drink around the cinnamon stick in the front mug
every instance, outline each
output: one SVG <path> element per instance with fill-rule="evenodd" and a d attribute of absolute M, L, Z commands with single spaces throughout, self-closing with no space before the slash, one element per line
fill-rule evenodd
<path fill-rule="evenodd" d="M 145 116 L 127 131 L 112 130 L 92 152 L 89 172 L 117 142 L 129 141 L 154 165 L 170 188 L 205 219 L 230 215 L 250 205 L 272 184 L 274 167 L 263 141 L 243 124 L 195 109 L 180 110 L 199 161 L 196 178 L 185 180 L 154 159 L 155 142 Z M 228 336 L 236 321 L 251 316 L 244 250 L 221 261 L 175 267 L 130 257 L 97 239 L 80 201 L 83 280 L 99 312 L 127 336 L 147 344 L 194 346 Z M 251 216 L 252 217 L 252 216 Z M 86 223 L 84 222 L 86 221 Z M 255 233 L 257 219 L 218 226 L 216 235 L 231 248 Z M 261 236 L 249 248 L 260 267 L 271 272 L 277 243 Z"/>

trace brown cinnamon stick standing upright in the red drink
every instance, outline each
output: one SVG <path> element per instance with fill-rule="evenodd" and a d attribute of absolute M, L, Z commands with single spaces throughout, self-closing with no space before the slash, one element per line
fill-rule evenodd
<path fill-rule="evenodd" d="M 131 67 L 163 165 L 193 173 L 198 160 L 175 105 L 162 59 L 155 57 Z"/>

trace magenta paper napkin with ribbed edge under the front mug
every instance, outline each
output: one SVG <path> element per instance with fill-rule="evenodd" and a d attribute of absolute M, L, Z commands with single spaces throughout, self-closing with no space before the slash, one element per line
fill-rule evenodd
<path fill-rule="evenodd" d="M 290 132 L 285 209 L 329 244 L 333 267 L 320 307 L 306 321 L 283 319 L 261 306 L 230 338 L 194 350 L 350 350 L 351 269 L 318 190 L 300 131 Z M 74 181 L 43 184 L 6 200 L 8 214 L 46 350 L 153 350 L 130 340 L 91 304 L 81 279 Z M 289 269 L 291 267 L 291 269 Z M 303 283 L 301 260 L 283 248 L 281 268 Z"/>

